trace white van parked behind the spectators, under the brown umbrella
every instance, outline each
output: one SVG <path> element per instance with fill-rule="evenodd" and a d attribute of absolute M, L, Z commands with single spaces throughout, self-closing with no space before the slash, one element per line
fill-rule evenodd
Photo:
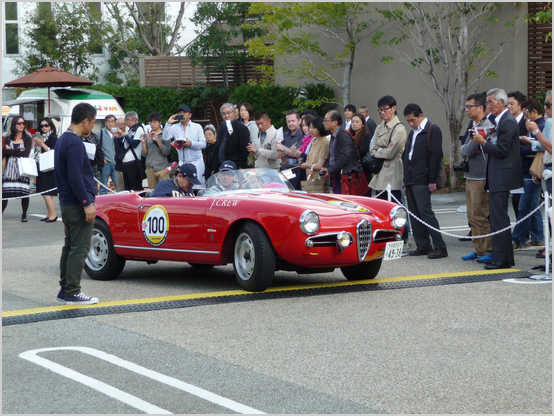
<path fill-rule="evenodd" d="M 22 92 L 16 100 L 2 103 L 2 105 L 12 106 L 8 117 L 3 120 L 2 136 L 9 134 L 11 120 L 16 116 L 25 119 L 25 127 L 31 134 L 37 131 L 40 119 L 51 117 L 60 135 L 71 124 L 73 107 L 82 102 L 96 108 L 94 132 L 104 127 L 104 118 L 108 114 L 113 114 L 116 118 L 125 117 L 125 112 L 117 100 L 105 92 L 85 88 L 51 88 L 50 109 L 48 109 L 48 89 L 34 88 Z"/>

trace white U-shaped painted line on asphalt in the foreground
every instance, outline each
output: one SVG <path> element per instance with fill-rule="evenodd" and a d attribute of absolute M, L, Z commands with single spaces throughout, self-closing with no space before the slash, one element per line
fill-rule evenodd
<path fill-rule="evenodd" d="M 259 410 L 253 409 L 251 407 L 245 406 L 241 403 L 237 403 L 233 400 L 227 399 L 225 397 L 219 396 L 215 393 L 209 392 L 207 390 L 201 389 L 200 387 L 193 386 L 192 384 L 185 383 L 181 380 L 166 376 L 164 374 L 158 373 L 156 371 L 149 370 L 147 368 L 141 367 L 130 361 L 123 360 L 115 355 L 107 354 L 103 351 L 96 350 L 94 348 L 87 347 L 58 347 L 58 348 L 40 348 L 36 350 L 25 351 L 19 354 L 19 356 L 25 360 L 31 361 L 35 364 L 38 364 L 48 370 L 51 370 L 55 373 L 58 373 L 64 377 L 75 380 L 79 383 L 82 383 L 88 387 L 91 387 L 95 390 L 98 390 L 110 397 L 113 397 L 123 403 L 126 403 L 136 409 L 142 410 L 145 413 L 149 414 L 172 414 L 171 412 L 164 410 L 160 407 L 154 406 L 151 403 L 148 403 L 144 400 L 139 399 L 131 394 L 125 393 L 115 387 L 110 386 L 109 384 L 102 383 L 94 378 L 85 376 L 77 371 L 71 370 L 63 365 L 54 363 L 46 358 L 39 357 L 37 354 L 45 351 L 79 351 L 84 354 L 92 355 L 101 360 L 107 361 L 111 364 L 115 364 L 119 367 L 123 367 L 129 371 L 140 374 L 142 376 L 151 378 L 152 380 L 159 381 L 160 383 L 167 384 L 168 386 L 175 387 L 179 390 L 185 391 L 201 399 L 212 402 L 216 405 L 225 407 L 227 409 L 233 410 L 237 413 L 243 414 L 265 414 Z"/>

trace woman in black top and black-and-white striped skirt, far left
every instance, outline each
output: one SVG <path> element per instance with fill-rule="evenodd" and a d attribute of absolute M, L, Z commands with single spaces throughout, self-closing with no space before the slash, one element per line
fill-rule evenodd
<path fill-rule="evenodd" d="M 21 222 L 27 222 L 27 210 L 29 209 L 30 180 L 19 172 L 18 159 L 29 157 L 33 146 L 33 138 L 25 130 L 25 119 L 14 117 L 10 125 L 10 135 L 4 142 L 2 156 L 7 156 L 6 169 L 2 180 L 2 213 L 8 206 L 5 198 L 21 198 Z"/>

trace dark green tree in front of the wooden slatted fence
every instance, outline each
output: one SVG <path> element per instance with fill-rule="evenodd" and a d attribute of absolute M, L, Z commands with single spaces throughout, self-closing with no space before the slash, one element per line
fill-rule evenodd
<path fill-rule="evenodd" d="M 198 27 L 198 36 L 187 47 L 187 56 L 194 66 L 202 66 L 205 74 L 221 72 L 223 83 L 247 82 L 245 74 L 229 79 L 228 68 L 246 63 L 248 51 L 244 44 L 264 34 L 261 27 L 246 26 L 251 3 L 198 3 L 191 21 Z M 249 17 L 252 18 L 252 17 Z"/>

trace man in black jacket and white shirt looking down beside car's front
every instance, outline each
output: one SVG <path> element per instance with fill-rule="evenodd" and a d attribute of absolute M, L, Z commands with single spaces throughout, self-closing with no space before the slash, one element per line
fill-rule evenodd
<path fill-rule="evenodd" d="M 408 104 L 404 109 L 404 117 L 413 129 L 402 154 L 408 208 L 426 224 L 439 229 L 439 222 L 431 206 L 431 194 L 437 190 L 442 160 L 442 132 L 437 125 L 429 122 L 417 104 Z M 410 256 L 427 254 L 430 259 L 448 257 L 446 243 L 440 232 L 431 230 L 417 220 L 411 224 L 417 249 L 410 251 Z M 433 245 L 429 237 L 433 239 Z"/>

